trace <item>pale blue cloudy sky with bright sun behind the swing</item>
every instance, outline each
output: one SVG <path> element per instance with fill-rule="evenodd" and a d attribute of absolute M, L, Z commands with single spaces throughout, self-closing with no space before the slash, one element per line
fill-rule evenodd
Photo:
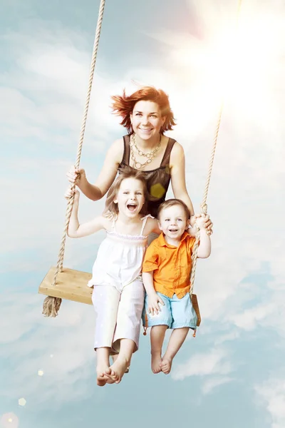
<path fill-rule="evenodd" d="M 1 2 L 0 427 L 284 428 L 282 1 L 244 0 L 238 36 L 236 1 L 106 1 L 81 160 L 89 180 L 124 133 L 110 96 L 152 84 L 170 95 L 169 135 L 185 148 L 199 210 L 225 96 L 208 200 L 213 250 L 195 283 L 202 324 L 169 376 L 152 374 L 141 336 L 130 374 L 98 388 L 93 308 L 65 301 L 56 319 L 41 315 L 37 290 L 57 260 L 98 5 Z M 81 220 L 102 208 L 81 198 Z M 64 264 L 90 271 L 102 238 L 67 240 Z"/>

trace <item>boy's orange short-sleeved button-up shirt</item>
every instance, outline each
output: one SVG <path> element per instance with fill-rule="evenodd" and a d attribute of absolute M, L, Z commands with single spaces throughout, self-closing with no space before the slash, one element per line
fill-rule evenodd
<path fill-rule="evenodd" d="M 167 297 L 174 294 L 182 299 L 190 291 L 192 250 L 195 238 L 185 232 L 180 245 L 175 247 L 165 241 L 163 233 L 153 240 L 145 252 L 142 272 L 152 272 L 155 291 Z"/>

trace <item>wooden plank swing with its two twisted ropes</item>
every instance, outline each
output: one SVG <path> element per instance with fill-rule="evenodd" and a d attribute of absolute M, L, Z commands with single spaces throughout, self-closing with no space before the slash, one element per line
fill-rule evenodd
<path fill-rule="evenodd" d="M 105 0 L 101 0 L 100 7 L 99 7 L 97 27 L 95 32 L 95 41 L 93 45 L 93 54 L 92 54 L 92 60 L 91 60 L 91 66 L 90 66 L 90 76 L 89 76 L 88 92 L 86 97 L 86 105 L 83 112 L 83 122 L 81 125 L 81 133 L 80 133 L 78 149 L 77 149 L 77 158 L 76 158 L 76 164 L 75 164 L 76 168 L 79 168 L 79 163 L 81 159 L 81 151 L 82 151 L 83 138 L 84 138 L 84 133 L 86 128 L 88 106 L 89 106 L 90 93 L 91 93 L 91 88 L 93 83 L 95 61 L 97 57 L 98 44 L 100 39 L 100 30 L 101 30 L 102 21 L 103 21 L 104 7 L 105 7 Z M 221 122 L 221 117 L 222 117 L 222 106 L 219 112 L 217 128 L 214 135 L 214 143 L 213 143 L 212 154 L 209 162 L 209 172 L 207 175 L 207 183 L 205 186 L 204 197 L 201 204 L 201 212 L 204 214 L 207 214 L 207 204 L 206 204 L 207 193 L 208 193 L 209 181 L 212 173 L 212 165 L 214 162 L 214 153 L 217 146 L 217 137 L 219 134 L 219 125 Z M 75 188 L 75 185 L 73 185 L 73 188 Z M 92 300 L 91 300 L 92 289 L 87 285 L 88 280 L 90 280 L 92 275 L 88 272 L 81 272 L 79 270 L 73 270 L 67 267 L 63 267 L 63 256 L 64 256 L 64 249 L 65 249 L 65 243 L 66 243 L 66 234 L 68 230 L 69 219 L 71 218 L 73 200 L 74 200 L 74 195 L 68 200 L 68 204 L 66 208 L 66 223 L 64 226 L 63 236 L 61 239 L 61 246 L 58 253 L 57 265 L 56 267 L 51 267 L 51 269 L 48 271 L 46 277 L 44 277 L 38 289 L 39 293 L 48 296 L 43 302 L 43 312 L 42 312 L 43 315 L 46 317 L 56 317 L 58 315 L 58 310 L 61 307 L 62 299 L 73 300 L 74 302 L 80 302 L 80 303 L 86 303 L 88 305 L 92 305 Z M 199 228 L 197 228 L 196 242 L 195 242 L 195 246 L 192 254 L 192 271 L 191 271 L 191 278 L 190 278 L 190 282 L 191 282 L 190 296 L 192 299 L 192 305 L 197 314 L 197 326 L 200 325 L 201 316 L 199 313 L 197 296 L 193 294 L 193 287 L 194 287 L 194 281 L 195 281 L 198 246 L 199 246 Z M 193 336 L 195 336 L 195 332 Z"/>

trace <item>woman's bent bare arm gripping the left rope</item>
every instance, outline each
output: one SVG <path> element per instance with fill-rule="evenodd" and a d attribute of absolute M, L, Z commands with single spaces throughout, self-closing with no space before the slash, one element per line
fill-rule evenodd
<path fill-rule="evenodd" d="M 88 182 L 85 170 L 83 169 L 70 170 L 67 173 L 68 180 L 71 183 L 76 183 L 78 188 L 87 196 L 87 198 L 91 200 L 99 200 L 103 198 L 115 180 L 115 176 L 118 172 L 118 166 L 123 158 L 123 151 L 123 138 L 120 138 L 120 140 L 116 140 L 112 146 L 110 146 L 103 163 L 103 168 L 100 171 L 95 184 Z"/>

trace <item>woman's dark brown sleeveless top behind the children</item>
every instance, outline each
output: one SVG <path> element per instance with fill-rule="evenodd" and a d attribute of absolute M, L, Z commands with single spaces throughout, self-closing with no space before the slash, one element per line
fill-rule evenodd
<path fill-rule="evenodd" d="M 130 166 L 130 135 L 124 136 L 123 138 L 124 154 L 122 162 L 119 165 L 119 173 L 120 171 L 123 171 L 126 166 L 132 168 Z M 151 214 L 156 217 L 158 207 L 165 201 L 165 195 L 170 185 L 170 153 L 175 143 L 176 141 L 173 138 L 169 138 L 165 148 L 165 154 L 163 155 L 159 168 L 156 168 L 155 170 L 141 171 L 145 175 L 148 191 L 148 203 L 143 205 L 141 211 L 142 214 Z"/>

